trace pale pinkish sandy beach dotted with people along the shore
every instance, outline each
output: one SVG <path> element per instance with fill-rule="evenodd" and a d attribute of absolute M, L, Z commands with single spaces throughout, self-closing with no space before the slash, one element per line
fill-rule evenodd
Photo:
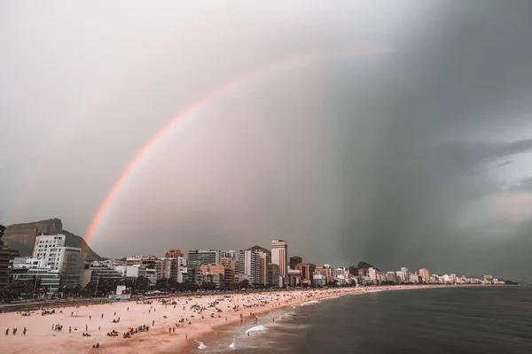
<path fill-rule="evenodd" d="M 7 312 L 0 314 L 0 345 L 3 353 L 175 353 L 180 348 L 190 348 L 194 341 L 201 342 L 201 338 L 214 333 L 216 327 L 235 323 L 249 323 L 252 327 L 256 317 L 283 306 L 376 290 L 427 288 L 433 287 L 405 285 L 198 295 L 172 297 L 176 304 L 163 304 L 158 300 L 152 300 L 151 304 L 130 301 L 56 308 L 55 313 L 46 315 L 41 315 L 41 311 L 29 316 Z M 57 326 L 62 329 L 55 329 Z M 149 329 L 141 332 L 138 330 L 141 326 Z M 13 328 L 18 329 L 16 335 L 12 334 Z M 23 335 L 24 328 L 27 328 L 26 335 Z M 137 328 L 137 333 L 124 338 L 123 334 L 131 328 L 133 332 Z M 107 335 L 113 330 L 117 336 Z M 99 348 L 93 349 L 96 343 Z"/>

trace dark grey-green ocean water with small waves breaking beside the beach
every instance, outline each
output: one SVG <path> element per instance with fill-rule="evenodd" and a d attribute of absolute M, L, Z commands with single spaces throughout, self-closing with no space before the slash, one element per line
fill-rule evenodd
<path fill-rule="evenodd" d="M 532 353 L 532 287 L 407 289 L 315 300 L 201 338 L 191 351 Z"/>

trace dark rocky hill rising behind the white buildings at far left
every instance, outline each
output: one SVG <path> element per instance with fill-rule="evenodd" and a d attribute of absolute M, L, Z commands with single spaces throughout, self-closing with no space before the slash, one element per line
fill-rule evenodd
<path fill-rule="evenodd" d="M 66 235 L 65 246 L 78 247 L 82 249 L 85 258 L 92 260 L 102 260 L 98 253 L 91 250 L 87 242 L 78 235 L 74 235 L 63 229 L 61 219 L 47 219 L 24 224 L 9 225 L 5 229 L 4 242 L 12 249 L 19 250 L 21 256 L 31 256 L 35 236 L 44 234 Z"/>

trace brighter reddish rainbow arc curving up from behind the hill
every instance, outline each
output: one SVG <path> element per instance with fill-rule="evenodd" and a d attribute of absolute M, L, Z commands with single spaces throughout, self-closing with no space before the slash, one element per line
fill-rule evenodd
<path fill-rule="evenodd" d="M 99 205 L 98 211 L 96 212 L 96 214 L 90 221 L 90 226 L 88 227 L 85 233 L 85 237 L 84 237 L 85 242 L 90 243 L 92 241 L 92 238 L 96 234 L 96 231 L 98 230 L 98 227 L 102 222 L 102 219 L 104 219 L 104 217 L 106 216 L 106 212 L 108 211 L 110 205 L 113 203 L 114 198 L 120 191 L 122 184 L 124 184 L 124 182 L 128 180 L 129 175 L 137 168 L 137 165 L 139 165 L 141 161 L 145 159 L 146 155 L 151 150 L 153 150 L 153 148 L 166 135 L 168 135 L 168 133 L 170 133 L 172 129 L 174 129 L 174 127 L 176 127 L 183 119 L 191 116 L 193 112 L 197 112 L 201 107 L 203 107 L 208 102 L 214 100 L 216 97 L 221 96 L 223 92 L 231 90 L 247 81 L 251 81 L 254 78 L 262 76 L 266 73 L 271 73 L 274 70 L 277 70 L 278 68 L 286 66 L 286 65 L 291 65 L 294 63 L 299 63 L 299 62 L 306 61 L 309 59 L 314 59 L 314 58 L 338 56 L 342 54 L 345 54 L 345 55 L 367 54 L 367 53 L 374 53 L 377 51 L 382 51 L 382 50 L 372 48 L 372 47 L 348 48 L 348 49 L 332 50 L 332 51 L 326 51 L 326 52 L 315 51 L 315 52 L 309 52 L 304 55 L 299 55 L 296 57 L 285 58 L 283 60 L 276 61 L 268 65 L 264 65 L 251 72 L 245 73 L 239 76 L 238 78 L 223 84 L 221 87 L 210 91 L 209 93 L 207 93 L 206 96 L 202 96 L 198 101 L 194 102 L 191 106 L 189 106 L 183 112 L 180 112 L 174 119 L 170 120 L 164 127 L 160 129 L 160 131 L 156 135 L 153 136 L 152 139 L 150 139 L 149 142 L 145 144 L 145 146 L 140 151 L 137 152 L 137 155 L 135 156 L 135 158 L 133 158 L 129 162 L 129 165 L 121 173 L 118 180 L 114 182 L 113 188 L 109 190 L 105 199 Z"/>

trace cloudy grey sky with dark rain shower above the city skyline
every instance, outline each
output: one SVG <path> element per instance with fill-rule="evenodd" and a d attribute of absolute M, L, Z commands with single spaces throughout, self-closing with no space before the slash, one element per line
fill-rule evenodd
<path fill-rule="evenodd" d="M 532 280 L 532 4 L 4 2 L 0 222 Z M 359 52 L 360 48 L 372 48 Z M 318 53 L 311 58 L 308 53 Z"/>

